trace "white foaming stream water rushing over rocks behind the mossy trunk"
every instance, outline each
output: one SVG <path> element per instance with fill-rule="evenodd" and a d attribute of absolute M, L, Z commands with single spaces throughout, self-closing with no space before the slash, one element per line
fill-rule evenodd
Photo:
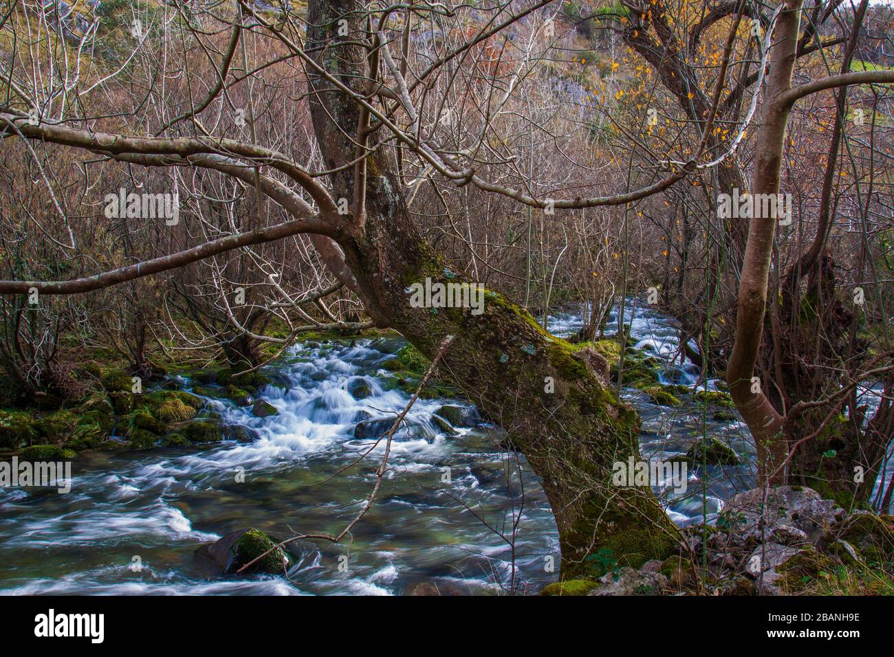
<path fill-rule="evenodd" d="M 637 347 L 662 359 L 662 381 L 698 389 L 698 372 L 679 358 L 668 318 L 637 307 L 625 323 Z M 615 313 L 609 326 L 617 324 Z M 552 333 L 582 325 L 579 314 L 551 318 Z M 259 397 L 278 411 L 209 400 L 223 421 L 257 434 L 254 442 L 199 448 L 87 453 L 73 462 L 72 491 L 0 489 L 0 593 L 5 594 L 486 594 L 533 593 L 556 577 L 552 511 L 524 458 L 502 451 L 495 427 L 448 436 L 431 417 L 444 403 L 417 400 L 392 444 L 375 505 L 350 540 L 292 543 L 289 580 L 222 576 L 195 550 L 255 526 L 277 538 L 339 533 L 375 483 L 384 442 L 354 437 L 358 421 L 400 412 L 409 400 L 392 388 L 385 360 L 397 339 L 296 345 L 271 367 L 281 386 Z M 362 379 L 362 382 L 361 382 Z M 190 389 L 189 381 L 180 382 Z M 350 394 L 366 383 L 371 394 Z M 708 388 L 713 382 L 707 382 Z M 683 453 L 703 433 L 743 457 L 737 467 L 690 470 L 688 489 L 655 488 L 680 525 L 709 520 L 722 500 L 754 482 L 754 446 L 740 422 L 718 422 L 687 403 L 667 409 L 625 390 L 643 420 L 645 457 Z M 352 467 L 349 467 L 352 466 Z M 344 469 L 348 467 L 348 469 Z M 520 474 L 519 474 L 520 473 Z M 519 480 L 520 479 L 520 480 Z"/>

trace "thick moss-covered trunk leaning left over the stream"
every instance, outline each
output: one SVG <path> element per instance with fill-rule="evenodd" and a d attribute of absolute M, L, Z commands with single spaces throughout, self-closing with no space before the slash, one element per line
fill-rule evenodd
<path fill-rule="evenodd" d="M 313 0 L 307 48 L 342 84 L 366 92 L 367 52 L 358 46 L 368 36 L 362 7 L 356 0 Z M 340 37 L 342 20 L 350 30 Z M 338 170 L 331 175 L 333 195 L 347 198 L 354 215 L 355 230 L 340 242 L 368 312 L 428 357 L 444 336 L 454 336 L 441 372 L 510 433 L 541 479 L 559 528 L 562 577 L 585 574 L 586 557 L 599 551 L 631 565 L 666 555 L 676 531 L 651 488 L 612 485 L 615 462 L 640 460 L 639 421 L 611 390 L 605 360 L 544 332 L 495 291 L 485 293 L 480 315 L 468 308 L 411 307 L 412 283 L 468 278 L 420 236 L 388 151 L 367 156 L 365 171 L 349 164 L 367 121 L 356 100 L 323 76 L 312 76 L 311 84 L 316 138 L 327 167 Z M 364 202 L 354 198 L 355 179 L 362 176 Z"/>

